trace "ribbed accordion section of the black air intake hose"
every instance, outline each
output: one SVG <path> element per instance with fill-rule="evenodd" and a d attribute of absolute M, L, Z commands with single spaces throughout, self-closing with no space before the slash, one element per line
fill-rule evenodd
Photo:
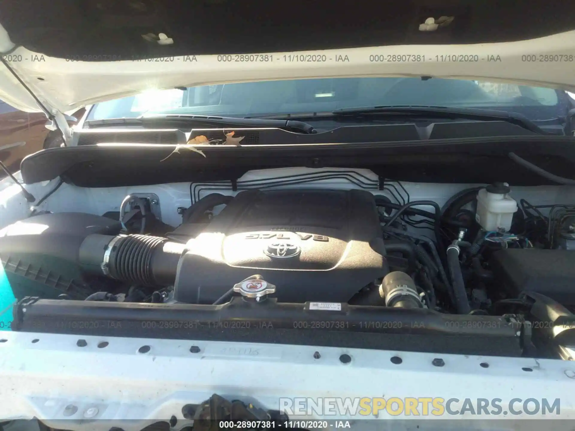
<path fill-rule="evenodd" d="M 154 249 L 167 241 L 167 238 L 147 235 L 120 238 L 110 253 L 110 275 L 118 280 L 155 286 L 152 272 Z"/>

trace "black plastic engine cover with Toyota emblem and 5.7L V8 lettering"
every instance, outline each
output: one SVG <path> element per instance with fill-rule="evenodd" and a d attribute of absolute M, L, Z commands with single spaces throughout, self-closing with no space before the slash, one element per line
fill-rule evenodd
<path fill-rule="evenodd" d="M 213 303 L 260 274 L 280 302 L 347 302 L 388 273 L 381 238 L 366 191 L 243 191 L 188 243 L 175 299 Z"/>

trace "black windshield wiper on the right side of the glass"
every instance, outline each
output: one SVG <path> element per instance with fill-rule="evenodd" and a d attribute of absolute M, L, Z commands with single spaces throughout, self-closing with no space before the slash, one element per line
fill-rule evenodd
<path fill-rule="evenodd" d="M 538 134 L 553 134 L 546 132 L 523 114 L 499 111 L 494 109 L 446 107 L 446 106 L 362 106 L 341 108 L 332 111 L 335 116 L 389 115 L 417 116 L 431 118 L 465 118 L 478 121 L 507 121 Z"/>

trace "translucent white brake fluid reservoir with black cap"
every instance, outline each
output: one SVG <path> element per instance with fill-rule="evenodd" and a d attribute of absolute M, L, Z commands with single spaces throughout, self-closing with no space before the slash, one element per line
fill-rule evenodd
<path fill-rule="evenodd" d="M 511 188 L 507 183 L 494 183 L 482 188 L 477 194 L 477 213 L 475 220 L 485 230 L 508 232 L 511 229 L 513 213 L 517 211 L 517 202 L 509 196 Z"/>

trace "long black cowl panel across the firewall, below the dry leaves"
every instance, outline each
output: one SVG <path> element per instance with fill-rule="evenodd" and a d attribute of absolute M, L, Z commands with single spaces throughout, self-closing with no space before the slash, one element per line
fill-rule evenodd
<path fill-rule="evenodd" d="M 206 157 L 175 145 L 51 148 L 27 156 L 21 165 L 25 183 L 62 176 L 80 187 L 117 187 L 172 182 L 235 180 L 255 169 L 281 167 L 367 168 L 402 181 L 438 183 L 509 182 L 515 186 L 553 184 L 518 166 L 512 151 L 531 163 L 571 178 L 575 139 L 567 136 L 464 138 L 310 145 L 209 145 Z"/>

